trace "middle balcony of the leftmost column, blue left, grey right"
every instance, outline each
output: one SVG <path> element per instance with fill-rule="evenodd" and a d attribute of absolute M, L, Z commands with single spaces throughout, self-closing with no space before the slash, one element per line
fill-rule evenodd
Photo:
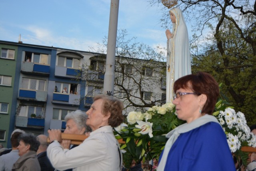
<path fill-rule="evenodd" d="M 46 102 L 47 91 L 34 90 L 34 89 L 20 89 L 18 98 Z"/>

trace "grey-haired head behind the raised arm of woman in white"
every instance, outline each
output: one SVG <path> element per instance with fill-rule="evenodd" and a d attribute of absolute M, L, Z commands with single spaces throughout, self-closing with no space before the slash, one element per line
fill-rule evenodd
<path fill-rule="evenodd" d="M 65 117 L 66 129 L 64 133 L 84 134 L 91 131 L 86 125 L 87 115 L 81 110 L 68 113 Z"/>

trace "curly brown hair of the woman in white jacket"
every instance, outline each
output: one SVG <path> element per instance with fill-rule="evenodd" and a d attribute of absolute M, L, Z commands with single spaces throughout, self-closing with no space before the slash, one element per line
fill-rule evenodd
<path fill-rule="evenodd" d="M 122 110 L 124 109 L 124 105 L 120 99 L 109 96 L 106 94 L 96 95 L 93 101 L 98 99 L 102 99 L 102 113 L 103 115 L 107 115 L 110 112 L 110 117 L 108 119 L 108 125 L 112 127 L 119 126 L 124 121 L 124 116 L 122 114 Z"/>

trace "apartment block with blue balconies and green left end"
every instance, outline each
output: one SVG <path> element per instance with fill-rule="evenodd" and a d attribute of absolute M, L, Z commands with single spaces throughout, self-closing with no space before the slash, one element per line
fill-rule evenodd
<path fill-rule="evenodd" d="M 35 135 L 64 130 L 67 113 L 87 111 L 93 96 L 102 93 L 105 54 L 7 41 L 0 41 L 0 54 L 0 143 L 5 147 L 17 128 Z M 160 63 L 116 57 L 116 64 L 113 95 L 127 106 L 124 114 L 138 109 L 129 101 L 164 102 L 162 76 L 154 69 Z M 140 87 L 132 78 L 147 81 Z"/>

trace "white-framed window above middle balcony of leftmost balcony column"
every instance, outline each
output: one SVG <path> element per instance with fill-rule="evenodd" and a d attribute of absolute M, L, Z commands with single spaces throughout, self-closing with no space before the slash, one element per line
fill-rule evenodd
<path fill-rule="evenodd" d="M 44 91 L 45 90 L 45 80 L 22 78 L 22 88 Z"/>

